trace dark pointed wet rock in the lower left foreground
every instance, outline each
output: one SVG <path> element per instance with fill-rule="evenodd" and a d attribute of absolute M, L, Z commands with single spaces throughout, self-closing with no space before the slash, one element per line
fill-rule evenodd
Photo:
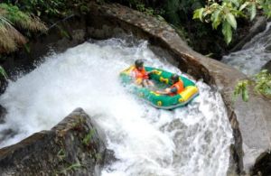
<path fill-rule="evenodd" d="M 0 174 L 100 175 L 107 151 L 104 137 L 78 108 L 50 131 L 0 149 Z"/>

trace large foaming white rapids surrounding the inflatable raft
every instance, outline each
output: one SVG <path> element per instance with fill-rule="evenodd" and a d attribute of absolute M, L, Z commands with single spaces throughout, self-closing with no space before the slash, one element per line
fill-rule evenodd
<path fill-rule="evenodd" d="M 118 80 L 119 71 L 139 58 L 145 65 L 181 73 L 158 60 L 147 42 L 85 42 L 51 55 L 10 82 L 0 97 L 8 111 L 0 134 L 9 128 L 17 132 L 0 145 L 50 129 L 82 107 L 105 130 L 107 147 L 119 159 L 102 171 L 105 176 L 226 175 L 232 132 L 220 95 L 198 81 L 200 96 L 187 107 L 150 107 Z"/>

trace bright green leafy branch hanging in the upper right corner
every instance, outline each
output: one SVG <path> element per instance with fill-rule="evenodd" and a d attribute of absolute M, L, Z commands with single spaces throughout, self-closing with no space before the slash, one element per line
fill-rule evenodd
<path fill-rule="evenodd" d="M 210 23 L 213 29 L 222 25 L 221 31 L 227 44 L 232 40 L 232 29 L 237 29 L 236 18 L 249 16 L 252 21 L 257 9 L 263 9 L 266 16 L 271 16 L 271 3 L 269 0 L 223 0 L 218 3 L 216 0 L 208 0 L 205 7 L 194 11 L 193 19 L 200 19 L 201 22 Z"/>

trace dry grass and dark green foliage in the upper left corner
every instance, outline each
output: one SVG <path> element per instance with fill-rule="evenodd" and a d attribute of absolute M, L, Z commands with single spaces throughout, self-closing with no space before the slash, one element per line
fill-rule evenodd
<path fill-rule="evenodd" d="M 15 51 L 31 32 L 46 32 L 47 25 L 70 14 L 88 12 L 89 0 L 7 0 L 0 4 L 0 51 Z M 42 20 L 41 20 L 42 19 Z"/>

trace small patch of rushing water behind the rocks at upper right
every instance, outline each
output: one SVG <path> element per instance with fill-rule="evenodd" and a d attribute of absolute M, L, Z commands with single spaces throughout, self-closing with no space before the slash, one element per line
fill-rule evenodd
<path fill-rule="evenodd" d="M 223 56 L 222 61 L 247 75 L 254 75 L 271 60 L 271 51 L 266 51 L 270 44 L 271 23 L 268 23 L 264 32 L 257 34 L 242 50 Z"/>

